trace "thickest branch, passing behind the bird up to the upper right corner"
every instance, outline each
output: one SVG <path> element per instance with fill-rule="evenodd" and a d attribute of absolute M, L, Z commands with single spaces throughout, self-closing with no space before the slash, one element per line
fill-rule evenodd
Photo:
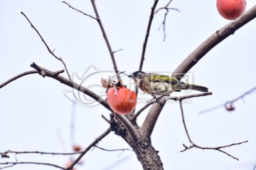
<path fill-rule="evenodd" d="M 186 74 L 189 69 L 191 69 L 201 58 L 206 55 L 207 52 L 209 52 L 215 45 L 218 45 L 222 40 L 227 38 L 229 35 L 232 35 L 235 33 L 235 30 L 238 30 L 242 26 L 244 26 L 249 21 L 252 21 L 256 17 L 256 6 L 253 6 L 250 8 L 246 13 L 244 13 L 240 18 L 238 18 L 236 21 L 231 21 L 228 23 L 228 25 L 224 26 L 220 30 L 217 30 L 216 33 L 211 35 L 205 42 L 203 42 L 201 45 L 199 45 L 196 50 L 194 50 L 191 55 L 189 55 L 186 60 L 184 60 L 174 71 L 173 75 L 177 79 L 181 79 L 182 76 L 180 74 Z M 164 107 L 164 104 L 161 103 L 154 103 L 150 110 L 148 115 L 146 116 L 146 119 L 144 120 L 143 125 L 150 126 L 155 125 L 156 120 L 160 115 L 160 112 L 162 108 Z M 144 130 L 153 130 L 152 128 L 144 127 Z M 151 132 L 146 132 L 146 134 L 151 135 Z"/>

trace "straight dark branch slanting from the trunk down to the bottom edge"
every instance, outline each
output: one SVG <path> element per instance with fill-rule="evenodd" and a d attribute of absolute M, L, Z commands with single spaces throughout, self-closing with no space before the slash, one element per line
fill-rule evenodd
<path fill-rule="evenodd" d="M 72 170 L 73 167 L 75 166 L 75 164 L 77 164 L 80 159 L 82 159 L 82 157 L 92 148 L 92 147 L 95 147 L 97 145 L 98 142 L 100 142 L 100 140 L 102 140 L 104 137 L 106 137 L 109 133 L 111 132 L 111 128 L 108 128 L 104 133 L 102 133 L 102 135 L 100 135 L 99 137 L 96 138 L 95 141 L 93 141 L 87 148 L 85 148 L 80 156 L 75 159 L 75 161 L 70 164 L 70 166 L 68 166 L 68 168 L 66 168 L 65 170 Z"/>

